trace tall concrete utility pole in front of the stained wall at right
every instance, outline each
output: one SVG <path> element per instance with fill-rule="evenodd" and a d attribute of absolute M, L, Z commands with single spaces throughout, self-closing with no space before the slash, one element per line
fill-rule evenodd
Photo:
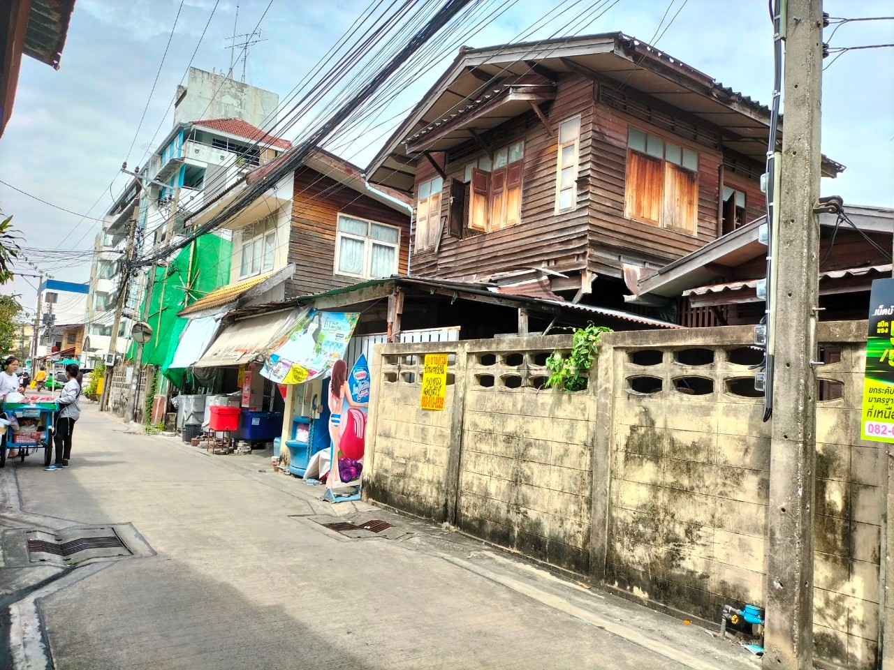
<path fill-rule="evenodd" d="M 814 657 L 816 321 L 819 297 L 822 0 L 789 0 L 786 25 L 776 341 L 767 513 L 764 668 Z"/>

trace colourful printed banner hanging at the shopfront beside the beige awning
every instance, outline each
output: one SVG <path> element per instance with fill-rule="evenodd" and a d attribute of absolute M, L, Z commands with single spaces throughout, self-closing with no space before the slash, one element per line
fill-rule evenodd
<path fill-rule="evenodd" d="M 302 312 L 295 325 L 266 348 L 261 374 L 278 384 L 320 376 L 344 356 L 358 318 L 356 312 Z"/>

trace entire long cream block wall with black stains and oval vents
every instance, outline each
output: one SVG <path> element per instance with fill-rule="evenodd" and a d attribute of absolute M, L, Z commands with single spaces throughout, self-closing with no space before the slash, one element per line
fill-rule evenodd
<path fill-rule="evenodd" d="M 848 669 L 881 661 L 894 605 L 881 588 L 894 465 L 887 445 L 857 439 L 864 334 L 864 322 L 822 323 L 835 362 L 817 371 L 833 388 L 817 409 L 814 635 L 825 666 Z M 738 327 L 612 333 L 590 388 L 570 395 L 536 388 L 543 353 L 566 337 L 383 345 L 367 497 L 652 607 L 717 623 L 724 604 L 763 606 L 770 424 L 751 339 Z M 420 410 L 422 358 L 444 352 L 447 409 Z"/>

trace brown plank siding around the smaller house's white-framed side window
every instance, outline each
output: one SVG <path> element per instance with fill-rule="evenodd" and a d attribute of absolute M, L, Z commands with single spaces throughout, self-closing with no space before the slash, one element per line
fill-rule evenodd
<path fill-rule="evenodd" d="M 295 172 L 294 193 L 289 263 L 295 264 L 295 274 L 286 282 L 286 297 L 311 295 L 360 281 L 333 273 L 338 214 L 398 226 L 401 229 L 400 272 L 407 273 L 409 214 L 401 214 L 308 168 Z"/>

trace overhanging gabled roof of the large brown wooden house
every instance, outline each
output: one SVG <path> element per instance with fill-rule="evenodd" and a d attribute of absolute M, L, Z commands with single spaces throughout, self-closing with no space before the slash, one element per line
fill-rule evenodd
<path fill-rule="evenodd" d="M 419 151 L 457 146 L 468 141 L 469 129 L 489 130 L 507 117 L 529 111 L 521 90 L 510 91 L 519 88 L 519 78 L 536 73 L 554 80 L 568 72 L 584 74 L 616 90 L 645 94 L 658 105 L 672 106 L 696 119 L 721 136 L 723 147 L 758 163 L 766 160 L 770 122 L 766 106 L 645 42 L 613 32 L 460 48 L 448 70 L 369 164 L 367 178 L 411 192 Z M 549 92 L 538 90 L 536 96 L 548 99 Z M 455 132 L 451 132 L 453 127 Z M 781 133 L 780 123 L 778 138 Z M 426 135 L 437 142 L 423 147 L 419 139 Z M 823 159 L 822 169 L 824 176 L 835 176 L 844 166 Z"/>

